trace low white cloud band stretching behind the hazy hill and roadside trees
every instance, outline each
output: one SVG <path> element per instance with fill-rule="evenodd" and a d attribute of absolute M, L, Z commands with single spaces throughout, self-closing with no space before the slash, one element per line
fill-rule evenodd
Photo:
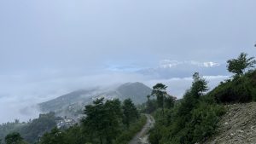
<path fill-rule="evenodd" d="M 206 76 L 205 78 L 207 78 L 209 82 L 209 87 L 213 88 L 220 81 L 229 77 Z M 189 89 L 192 83 L 192 78 L 150 79 L 147 76 L 131 72 L 109 72 L 105 74 L 69 78 L 49 77 L 49 79 L 24 84 L 15 84 L 17 83 L 15 79 L 16 77 L 13 78 L 14 82 L 10 84 L 11 87 L 9 89 L 1 90 L 0 123 L 14 121 L 15 118 L 20 119 L 20 121 L 27 121 L 29 118 L 37 118 L 39 114 L 38 103 L 54 99 L 57 96 L 67 94 L 77 89 L 87 89 L 96 86 L 108 87 L 113 84 L 124 84 L 127 82 L 142 82 L 149 87 L 157 83 L 163 83 L 168 86 L 168 92 L 171 95 L 181 98 L 184 91 Z M 11 81 L 11 78 L 9 80 Z M 5 83 L 10 83 L 10 81 L 5 81 Z M 1 86 L 7 88 L 6 85 Z"/>

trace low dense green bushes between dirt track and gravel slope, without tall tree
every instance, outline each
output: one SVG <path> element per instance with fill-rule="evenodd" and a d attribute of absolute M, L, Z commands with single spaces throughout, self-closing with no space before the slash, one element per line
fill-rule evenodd
<path fill-rule="evenodd" d="M 169 112 L 175 117 L 171 119 L 167 115 L 165 118 L 160 118 L 161 112 L 156 111 L 154 114 L 156 124 L 154 129 L 149 131 L 148 137 L 151 144 L 194 144 L 204 141 L 215 133 L 219 118 L 225 112 L 224 107 L 218 104 L 200 101 L 190 112 L 189 120 L 185 120 L 182 115 L 177 115 L 177 109 Z M 166 123 L 168 121 L 171 123 Z"/>

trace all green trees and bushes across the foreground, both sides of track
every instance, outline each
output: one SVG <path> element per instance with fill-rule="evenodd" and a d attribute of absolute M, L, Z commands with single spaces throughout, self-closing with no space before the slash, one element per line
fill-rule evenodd
<path fill-rule="evenodd" d="M 216 133 L 225 104 L 256 101 L 254 64 L 256 60 L 245 53 L 228 60 L 227 69 L 234 75 L 210 91 L 207 80 L 195 72 L 181 100 L 169 95 L 165 84 L 155 84 L 148 101 L 139 107 L 131 99 L 99 98 L 84 107 L 79 124 L 67 129 L 56 128 L 58 118 L 50 112 L 27 124 L 18 120 L 2 124 L 0 136 L 11 130 L 3 140 L 6 144 L 125 144 L 146 124 L 143 113 L 149 113 L 155 119 L 148 132 L 151 144 L 201 143 Z"/>

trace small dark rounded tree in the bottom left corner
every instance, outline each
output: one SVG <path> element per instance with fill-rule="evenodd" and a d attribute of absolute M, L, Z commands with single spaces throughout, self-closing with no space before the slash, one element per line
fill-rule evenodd
<path fill-rule="evenodd" d="M 26 142 L 23 141 L 23 138 L 20 136 L 20 133 L 13 132 L 5 136 L 5 143 L 6 144 L 25 144 Z"/>

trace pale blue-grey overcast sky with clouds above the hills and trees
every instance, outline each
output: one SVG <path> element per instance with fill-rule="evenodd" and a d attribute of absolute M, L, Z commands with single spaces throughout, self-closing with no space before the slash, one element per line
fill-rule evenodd
<path fill-rule="evenodd" d="M 226 60 L 256 54 L 255 5 L 1 0 L 0 123 L 34 118 L 38 102 L 96 85 L 161 82 L 182 97 L 198 70 L 214 87 L 230 77 Z M 33 110 L 20 113 L 24 107 Z"/>

